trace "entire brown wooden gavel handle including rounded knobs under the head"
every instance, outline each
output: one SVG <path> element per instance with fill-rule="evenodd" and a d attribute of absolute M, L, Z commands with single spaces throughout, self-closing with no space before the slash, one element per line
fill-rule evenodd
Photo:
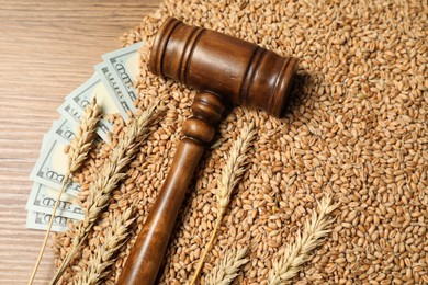
<path fill-rule="evenodd" d="M 151 285 L 156 281 L 189 182 L 214 136 L 214 123 L 221 118 L 224 105 L 215 94 L 195 96 L 193 117 L 183 126 L 184 138 L 176 151 L 171 168 L 158 197 L 138 235 L 119 277 L 119 285 Z"/>

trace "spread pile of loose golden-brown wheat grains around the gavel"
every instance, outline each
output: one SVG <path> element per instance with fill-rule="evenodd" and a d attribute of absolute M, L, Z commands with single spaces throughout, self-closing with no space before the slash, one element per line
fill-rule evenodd
<path fill-rule="evenodd" d="M 428 283 L 428 5 L 425 1 L 222 1 L 167 0 L 125 44 L 153 43 L 167 16 L 257 43 L 300 58 L 292 104 L 283 119 L 235 107 L 222 122 L 190 185 L 167 252 L 160 282 L 192 276 L 216 219 L 217 179 L 239 129 L 250 119 L 257 136 L 249 168 L 237 186 L 202 270 L 222 253 L 248 247 L 238 284 L 267 284 L 272 258 L 292 242 L 316 200 L 339 202 L 333 231 L 293 280 L 296 284 Z M 194 91 L 148 71 L 142 50 L 136 102 L 145 109 L 166 96 L 167 110 L 143 144 L 127 178 L 113 192 L 74 269 L 88 266 L 117 213 L 135 207 L 132 239 L 108 276 L 112 284 L 156 198 L 191 115 Z M 114 136 L 123 133 L 117 119 Z M 113 145 L 117 139 L 113 140 Z M 112 147 L 103 146 L 77 176 L 88 184 Z M 57 263 L 74 231 L 58 235 Z"/>

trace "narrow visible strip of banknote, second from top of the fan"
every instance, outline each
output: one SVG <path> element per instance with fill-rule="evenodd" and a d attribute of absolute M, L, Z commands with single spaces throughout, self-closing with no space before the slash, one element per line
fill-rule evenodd
<path fill-rule="evenodd" d="M 125 121 L 128 121 L 129 116 L 127 115 L 127 112 L 136 111 L 134 100 L 128 94 L 122 92 L 122 82 L 114 76 L 114 71 L 111 70 L 111 67 L 109 67 L 106 62 L 94 66 L 94 69 L 113 99 L 121 116 Z"/>

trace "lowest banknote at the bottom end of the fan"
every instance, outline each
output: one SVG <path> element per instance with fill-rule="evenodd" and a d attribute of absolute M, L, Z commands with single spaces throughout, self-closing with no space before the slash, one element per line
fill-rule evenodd
<path fill-rule="evenodd" d="M 47 230 L 50 220 L 50 214 L 29 212 L 26 216 L 26 227 L 30 229 L 42 229 Z M 76 221 L 76 219 L 67 218 L 64 216 L 55 216 L 52 225 L 53 231 L 65 231 L 68 226 L 68 221 Z"/>

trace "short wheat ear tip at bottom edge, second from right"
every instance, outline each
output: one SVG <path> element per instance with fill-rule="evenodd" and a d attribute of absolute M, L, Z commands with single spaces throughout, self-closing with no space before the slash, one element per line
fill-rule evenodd
<path fill-rule="evenodd" d="M 214 265 L 214 269 L 205 276 L 205 285 L 228 285 L 239 274 L 239 269 L 249 260 L 247 249 L 228 250 L 223 260 Z"/>

